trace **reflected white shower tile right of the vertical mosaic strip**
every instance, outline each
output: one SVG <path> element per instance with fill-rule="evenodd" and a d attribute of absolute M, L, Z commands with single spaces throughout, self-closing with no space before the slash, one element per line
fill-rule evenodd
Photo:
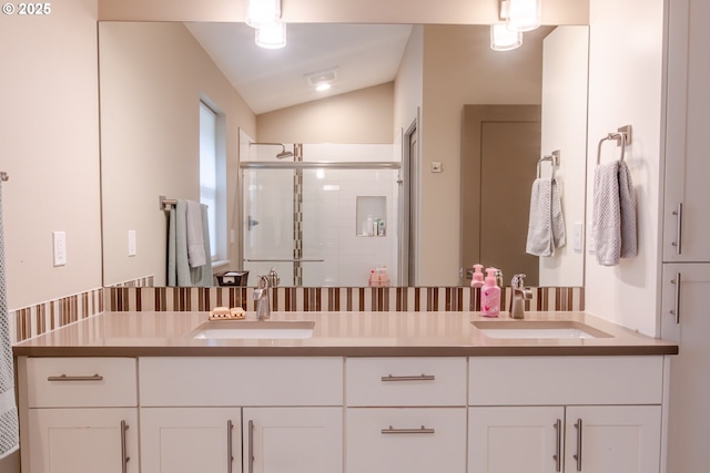
<path fill-rule="evenodd" d="M 390 162 L 392 145 L 305 144 L 304 161 Z M 367 286 L 369 271 L 388 268 L 396 281 L 397 171 L 318 169 L 304 173 L 304 286 Z M 358 196 L 384 196 L 386 236 L 364 237 L 356 219 Z"/>

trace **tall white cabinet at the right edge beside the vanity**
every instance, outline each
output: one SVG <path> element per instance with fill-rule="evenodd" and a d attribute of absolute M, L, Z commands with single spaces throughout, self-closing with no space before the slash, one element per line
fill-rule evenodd
<path fill-rule="evenodd" d="M 710 2 L 669 2 L 661 337 L 670 359 L 668 473 L 710 465 Z"/>

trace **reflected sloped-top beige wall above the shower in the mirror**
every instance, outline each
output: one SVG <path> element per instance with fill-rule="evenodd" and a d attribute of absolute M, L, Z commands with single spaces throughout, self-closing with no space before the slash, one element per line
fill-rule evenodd
<path fill-rule="evenodd" d="M 392 143 L 394 83 L 294 105 L 256 117 L 256 141 Z"/>

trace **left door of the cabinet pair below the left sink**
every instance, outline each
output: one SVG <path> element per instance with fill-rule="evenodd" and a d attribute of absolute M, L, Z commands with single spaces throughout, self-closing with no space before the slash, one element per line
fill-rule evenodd
<path fill-rule="evenodd" d="M 141 409 L 142 473 L 239 472 L 241 462 L 241 409 Z"/>

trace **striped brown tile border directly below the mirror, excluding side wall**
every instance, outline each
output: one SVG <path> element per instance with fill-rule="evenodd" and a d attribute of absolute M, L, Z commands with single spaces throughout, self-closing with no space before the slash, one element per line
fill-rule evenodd
<path fill-rule="evenodd" d="M 582 311 L 581 287 L 538 287 L 526 310 Z M 468 287 L 356 287 L 272 289 L 272 310 L 278 311 L 459 311 L 480 310 L 480 289 Z M 207 311 L 213 307 L 255 310 L 254 288 L 106 288 L 109 311 Z M 501 295 L 507 307 L 510 288 Z"/>

